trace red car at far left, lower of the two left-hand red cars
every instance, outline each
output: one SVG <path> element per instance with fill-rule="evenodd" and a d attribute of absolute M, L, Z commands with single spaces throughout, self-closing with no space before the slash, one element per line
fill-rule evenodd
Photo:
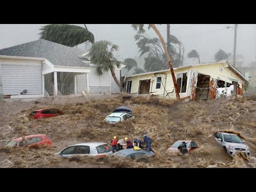
<path fill-rule="evenodd" d="M 28 135 L 28 136 L 25 136 L 25 138 L 26 138 L 25 145 L 23 145 L 22 137 L 20 137 L 10 141 L 7 144 L 7 146 L 8 147 L 18 147 L 18 146 L 31 147 L 35 145 L 52 145 L 52 141 L 45 134 Z"/>

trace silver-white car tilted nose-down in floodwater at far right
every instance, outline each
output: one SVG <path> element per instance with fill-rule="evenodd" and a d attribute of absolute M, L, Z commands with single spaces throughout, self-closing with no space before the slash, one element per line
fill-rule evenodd
<path fill-rule="evenodd" d="M 241 151 L 245 157 L 250 158 L 250 149 L 237 134 L 217 132 L 214 134 L 215 140 L 226 150 L 229 157 L 233 157 L 237 151 Z"/>

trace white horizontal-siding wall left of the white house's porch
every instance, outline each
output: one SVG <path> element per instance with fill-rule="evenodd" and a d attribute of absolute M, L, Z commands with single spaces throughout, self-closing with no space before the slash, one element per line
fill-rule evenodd
<path fill-rule="evenodd" d="M 4 95 L 43 94 L 41 61 L 1 59 L 1 73 Z"/>

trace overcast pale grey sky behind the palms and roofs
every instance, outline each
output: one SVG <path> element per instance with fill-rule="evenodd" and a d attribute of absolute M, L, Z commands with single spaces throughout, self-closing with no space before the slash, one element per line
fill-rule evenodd
<path fill-rule="evenodd" d="M 1 24 L 0 49 L 10 47 L 39 38 L 39 28 L 46 24 Z M 76 24 L 83 26 L 83 24 Z M 87 24 L 94 34 L 95 41 L 107 39 L 119 45 L 116 53 L 119 59 L 138 57 L 138 48 L 134 41 L 137 33 L 129 24 Z M 226 26 L 234 24 L 171 24 L 171 34 L 176 36 L 185 46 L 185 58 L 192 49 L 197 50 L 201 62 L 213 61 L 213 55 L 222 49 L 233 54 L 234 30 Z M 158 26 L 166 38 L 166 24 Z M 147 30 L 149 36 L 156 36 L 153 29 Z M 237 30 L 237 54 L 244 55 L 245 63 L 256 58 L 256 25 L 239 24 Z M 189 63 L 191 60 L 186 59 Z M 186 64 L 185 64 L 186 65 Z"/>

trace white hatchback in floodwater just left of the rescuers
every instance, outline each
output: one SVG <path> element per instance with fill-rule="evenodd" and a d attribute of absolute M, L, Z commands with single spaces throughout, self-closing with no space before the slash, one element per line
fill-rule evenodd
<path fill-rule="evenodd" d="M 71 145 L 61 150 L 57 155 L 59 157 L 72 157 L 75 155 L 78 156 L 107 156 L 112 155 L 113 152 L 107 146 L 107 143 L 103 142 L 86 142 L 79 143 L 76 145 Z"/>

